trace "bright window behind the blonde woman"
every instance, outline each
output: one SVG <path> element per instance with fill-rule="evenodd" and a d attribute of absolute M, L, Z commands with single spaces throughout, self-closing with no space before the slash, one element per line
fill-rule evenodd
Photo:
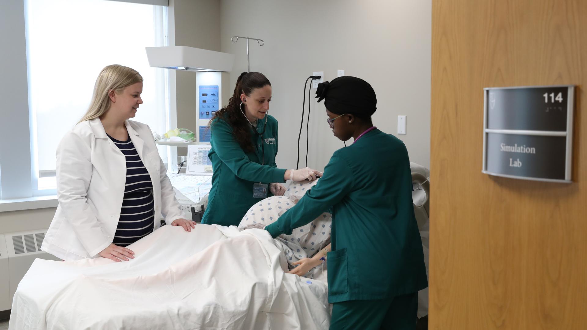
<path fill-rule="evenodd" d="M 54 193 L 55 151 L 85 114 L 98 73 L 120 64 L 143 76 L 133 120 L 167 130 L 167 72 L 151 68 L 145 47 L 167 46 L 167 7 L 104 0 L 26 0 L 32 188 Z M 160 148 L 161 157 L 167 157 Z M 35 189 L 36 188 L 36 189 Z"/>

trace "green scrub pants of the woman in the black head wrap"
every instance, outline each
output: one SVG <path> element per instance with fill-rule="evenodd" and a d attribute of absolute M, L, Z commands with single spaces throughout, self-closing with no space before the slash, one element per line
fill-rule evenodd
<path fill-rule="evenodd" d="M 418 292 L 388 299 L 335 302 L 330 330 L 414 330 L 417 314 Z"/>

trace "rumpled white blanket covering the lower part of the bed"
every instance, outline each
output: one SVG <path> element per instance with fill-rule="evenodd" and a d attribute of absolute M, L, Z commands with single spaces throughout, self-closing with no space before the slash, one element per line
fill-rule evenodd
<path fill-rule="evenodd" d="M 131 261 L 37 259 L 9 329 L 328 329 L 326 285 L 285 274 L 264 230 L 164 226 Z"/>

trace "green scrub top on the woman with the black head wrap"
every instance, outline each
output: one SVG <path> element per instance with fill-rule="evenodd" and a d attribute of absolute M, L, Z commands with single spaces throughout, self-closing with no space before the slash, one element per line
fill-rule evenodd
<path fill-rule="evenodd" d="M 371 300 L 428 286 L 406 146 L 372 130 L 337 150 L 312 190 L 265 227 L 291 234 L 332 207 L 328 301 Z"/>

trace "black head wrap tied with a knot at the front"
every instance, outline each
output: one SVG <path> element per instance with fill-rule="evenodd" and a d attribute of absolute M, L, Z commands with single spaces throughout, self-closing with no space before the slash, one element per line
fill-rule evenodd
<path fill-rule="evenodd" d="M 377 110 L 377 96 L 373 87 L 365 80 L 351 76 L 319 83 L 316 99 L 318 102 L 325 100 L 326 109 L 338 115 L 352 113 L 359 117 L 370 117 Z"/>

